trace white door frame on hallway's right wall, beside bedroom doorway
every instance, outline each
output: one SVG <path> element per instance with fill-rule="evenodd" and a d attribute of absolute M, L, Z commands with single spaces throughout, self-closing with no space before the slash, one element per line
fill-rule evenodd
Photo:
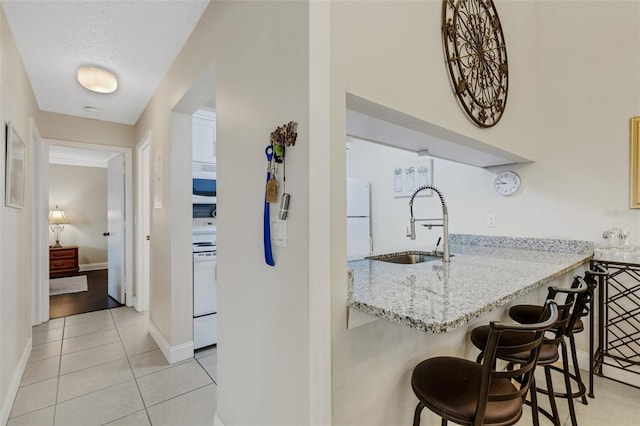
<path fill-rule="evenodd" d="M 142 208 L 143 205 L 143 197 L 145 196 L 145 188 L 144 188 L 144 180 L 143 173 L 145 168 L 143 167 L 143 156 L 144 150 L 149 149 L 149 167 L 147 168 L 147 181 L 150 183 L 151 179 L 151 170 L 150 170 L 150 161 L 151 161 L 151 130 L 147 131 L 147 133 L 140 139 L 138 144 L 136 145 L 136 296 L 134 307 L 138 312 L 145 312 L 149 310 L 149 273 L 150 270 L 144 271 L 145 265 L 143 262 L 143 245 L 145 241 L 145 223 L 149 223 L 151 221 L 151 215 L 145 217 L 144 211 Z M 149 190 L 150 188 L 146 188 Z M 151 194 L 150 192 L 146 193 L 147 203 L 151 204 Z M 151 206 L 149 205 L 149 208 Z M 148 253 L 150 255 L 150 253 Z"/>

